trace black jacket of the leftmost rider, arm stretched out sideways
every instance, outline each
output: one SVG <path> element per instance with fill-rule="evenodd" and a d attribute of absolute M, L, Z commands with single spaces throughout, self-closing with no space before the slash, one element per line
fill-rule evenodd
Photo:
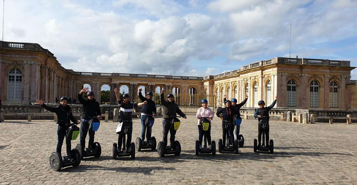
<path fill-rule="evenodd" d="M 43 104 L 41 105 L 41 107 L 50 112 L 56 113 L 57 124 L 60 126 L 68 126 L 68 124 L 70 124 L 70 121 L 77 124 L 77 120 L 72 115 L 72 110 L 69 105 L 63 106 L 60 104 L 58 107 L 49 107 L 48 105 Z"/>

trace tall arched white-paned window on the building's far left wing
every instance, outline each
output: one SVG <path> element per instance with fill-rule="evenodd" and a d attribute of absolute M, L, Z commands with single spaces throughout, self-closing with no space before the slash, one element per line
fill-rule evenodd
<path fill-rule="evenodd" d="M 22 97 L 22 72 L 14 68 L 9 71 L 7 86 L 7 100 L 21 100 Z"/>

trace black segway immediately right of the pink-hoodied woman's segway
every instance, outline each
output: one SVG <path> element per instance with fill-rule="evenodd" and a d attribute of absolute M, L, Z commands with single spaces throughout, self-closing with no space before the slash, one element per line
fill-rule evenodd
<path fill-rule="evenodd" d="M 221 116 L 227 118 L 233 118 L 233 116 Z M 236 139 L 231 147 L 229 145 L 230 136 L 229 136 L 229 129 L 233 126 L 232 121 L 230 120 L 222 120 L 222 128 L 226 129 L 226 135 L 223 136 L 226 138 L 226 142 L 223 143 L 222 139 L 218 140 L 218 152 L 219 153 L 235 153 L 238 154 L 238 140 Z"/>

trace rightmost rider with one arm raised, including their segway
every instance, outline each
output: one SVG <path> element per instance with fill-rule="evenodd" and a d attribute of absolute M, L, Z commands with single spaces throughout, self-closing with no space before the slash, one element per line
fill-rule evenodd
<path fill-rule="evenodd" d="M 257 150 L 261 151 L 270 151 L 273 153 L 274 151 L 274 142 L 271 139 L 269 141 L 269 111 L 276 104 L 277 96 L 275 96 L 275 100 L 269 107 L 264 107 L 265 102 L 263 100 L 258 102 L 259 108 L 255 111 L 254 117 L 258 118 L 258 144 L 257 139 L 254 139 L 254 152 Z M 263 143 L 261 145 L 261 137 L 263 134 Z M 264 146 L 264 139 L 266 139 L 266 145 Z"/>

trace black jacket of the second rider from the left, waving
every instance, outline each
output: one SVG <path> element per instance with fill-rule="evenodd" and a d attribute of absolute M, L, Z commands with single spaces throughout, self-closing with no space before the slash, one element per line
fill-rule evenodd
<path fill-rule="evenodd" d="M 89 117 L 101 116 L 102 112 L 100 111 L 100 106 L 95 99 L 88 100 L 83 98 L 81 94 L 77 96 L 79 102 L 83 105 L 82 113 L 84 119 L 89 119 Z"/>

